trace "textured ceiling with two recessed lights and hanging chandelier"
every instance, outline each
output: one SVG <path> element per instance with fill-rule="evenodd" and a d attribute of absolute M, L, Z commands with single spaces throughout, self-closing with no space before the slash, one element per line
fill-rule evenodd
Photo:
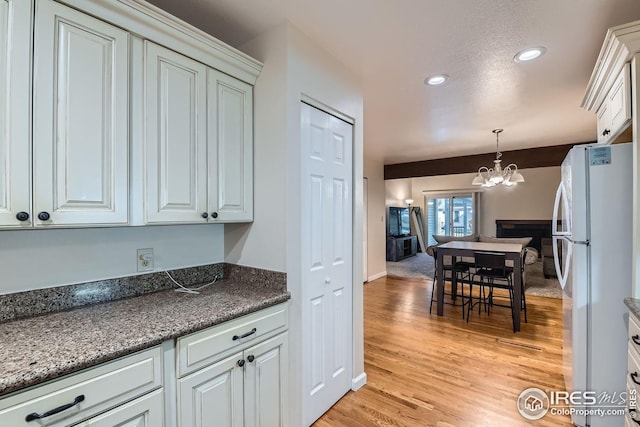
<path fill-rule="evenodd" d="M 497 127 L 505 151 L 595 140 L 580 103 L 606 30 L 640 19 L 638 0 L 151 2 L 234 47 L 291 22 L 361 76 L 365 153 L 385 164 L 495 151 Z"/>

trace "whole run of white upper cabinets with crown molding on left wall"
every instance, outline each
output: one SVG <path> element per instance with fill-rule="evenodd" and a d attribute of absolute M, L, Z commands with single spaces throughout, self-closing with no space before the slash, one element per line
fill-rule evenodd
<path fill-rule="evenodd" d="M 142 0 L 0 0 L 0 229 L 252 221 L 261 68 Z"/>

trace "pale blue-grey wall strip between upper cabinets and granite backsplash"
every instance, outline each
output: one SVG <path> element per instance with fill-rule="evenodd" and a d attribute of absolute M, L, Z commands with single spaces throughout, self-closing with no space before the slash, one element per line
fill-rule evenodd
<path fill-rule="evenodd" d="M 218 224 L 0 231 L 0 293 L 135 275 L 139 248 L 155 271 L 222 262 L 223 238 Z"/>

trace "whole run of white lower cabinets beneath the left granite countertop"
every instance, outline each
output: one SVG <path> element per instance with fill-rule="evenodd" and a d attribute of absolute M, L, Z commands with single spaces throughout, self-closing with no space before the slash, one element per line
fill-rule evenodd
<path fill-rule="evenodd" d="M 0 427 L 286 426 L 287 325 L 280 304 L 11 394 Z"/>

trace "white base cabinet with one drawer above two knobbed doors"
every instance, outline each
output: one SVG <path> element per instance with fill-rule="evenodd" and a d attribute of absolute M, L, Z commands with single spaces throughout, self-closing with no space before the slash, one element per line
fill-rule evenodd
<path fill-rule="evenodd" d="M 180 338 L 178 426 L 286 425 L 287 321 L 281 304 Z"/>

